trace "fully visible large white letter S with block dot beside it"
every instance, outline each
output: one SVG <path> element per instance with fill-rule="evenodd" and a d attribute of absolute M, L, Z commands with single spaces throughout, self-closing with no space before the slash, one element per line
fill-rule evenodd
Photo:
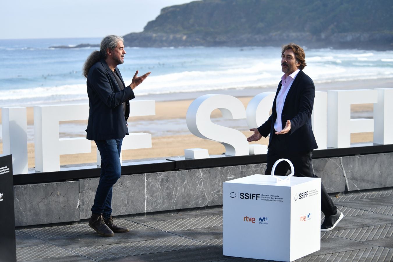
<path fill-rule="evenodd" d="M 188 129 L 197 137 L 217 141 L 224 145 L 225 154 L 228 156 L 248 155 L 248 142 L 240 131 L 211 122 L 210 115 L 215 109 L 219 109 L 222 116 L 228 119 L 246 118 L 246 110 L 239 99 L 231 95 L 202 95 L 195 99 L 187 110 Z M 208 156 L 200 152 L 201 148 L 191 148 L 188 152 L 190 150 L 192 152 L 193 149 L 202 156 Z M 188 153 L 187 156 L 195 158 L 193 154 Z"/>

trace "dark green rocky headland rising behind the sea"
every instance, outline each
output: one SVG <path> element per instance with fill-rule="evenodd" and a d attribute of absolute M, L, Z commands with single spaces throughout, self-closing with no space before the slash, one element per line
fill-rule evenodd
<path fill-rule="evenodd" d="M 161 10 L 126 46 L 393 49 L 391 0 L 203 0 Z"/>

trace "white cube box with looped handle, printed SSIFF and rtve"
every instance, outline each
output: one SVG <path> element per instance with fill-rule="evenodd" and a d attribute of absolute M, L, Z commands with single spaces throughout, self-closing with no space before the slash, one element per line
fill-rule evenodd
<path fill-rule="evenodd" d="M 321 179 L 274 176 L 279 161 L 272 176 L 223 183 L 224 255 L 293 261 L 320 250 Z"/>

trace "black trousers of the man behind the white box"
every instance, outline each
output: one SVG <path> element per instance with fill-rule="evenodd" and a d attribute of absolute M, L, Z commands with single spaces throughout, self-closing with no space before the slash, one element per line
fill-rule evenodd
<path fill-rule="evenodd" d="M 307 178 L 316 178 L 311 163 L 312 151 L 307 152 L 290 152 L 285 143 L 284 135 L 273 135 L 271 145 L 267 154 L 266 175 L 272 174 L 274 163 L 280 158 L 286 158 L 292 162 L 295 169 L 294 176 L 303 176 Z M 285 176 L 290 170 L 290 166 L 285 161 L 280 162 L 274 170 L 277 176 Z M 325 187 L 321 184 L 321 210 L 325 216 L 331 216 L 336 213 L 337 207 L 333 204 L 332 199 L 327 194 Z"/>

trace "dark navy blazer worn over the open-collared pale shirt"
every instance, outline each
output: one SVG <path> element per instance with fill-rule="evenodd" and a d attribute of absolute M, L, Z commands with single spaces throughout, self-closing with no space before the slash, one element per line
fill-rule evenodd
<path fill-rule="evenodd" d="M 277 118 L 275 110 L 277 94 L 281 89 L 281 81 L 278 84 L 277 92 L 273 102 L 272 114 L 269 119 L 258 127 L 259 133 L 266 137 L 270 134 L 269 147 L 272 138 L 276 136 L 274 130 L 274 122 Z M 286 95 L 281 122 L 283 128 L 286 121 L 291 121 L 291 130 L 283 136 L 286 145 L 292 152 L 306 152 L 318 148 L 315 141 L 314 133 L 311 128 L 311 113 L 314 105 L 315 86 L 312 79 L 302 70 L 295 77 L 292 86 Z"/>

